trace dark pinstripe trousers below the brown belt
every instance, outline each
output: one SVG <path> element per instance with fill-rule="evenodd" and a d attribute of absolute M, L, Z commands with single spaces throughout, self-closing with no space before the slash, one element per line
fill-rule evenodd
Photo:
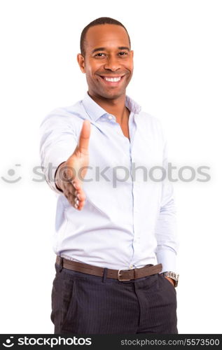
<path fill-rule="evenodd" d="M 176 334 L 176 289 L 153 274 L 131 281 L 92 276 L 55 264 L 55 334 Z"/>

